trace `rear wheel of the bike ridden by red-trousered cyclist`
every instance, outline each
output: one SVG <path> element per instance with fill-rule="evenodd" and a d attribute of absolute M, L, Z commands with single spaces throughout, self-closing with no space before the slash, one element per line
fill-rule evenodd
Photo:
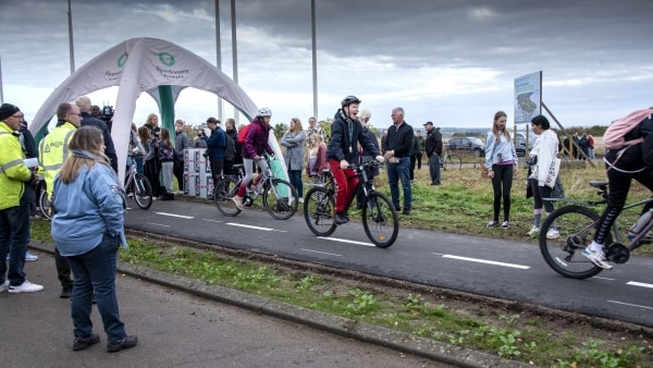
<path fill-rule="evenodd" d="M 318 236 L 333 234 L 335 228 L 335 200 L 329 189 L 313 186 L 304 198 L 304 219 L 310 231 Z"/>

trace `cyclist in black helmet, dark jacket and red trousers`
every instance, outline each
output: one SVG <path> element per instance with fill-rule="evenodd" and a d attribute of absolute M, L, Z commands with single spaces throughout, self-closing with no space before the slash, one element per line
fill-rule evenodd
<path fill-rule="evenodd" d="M 383 156 L 379 155 L 379 149 L 370 142 L 358 121 L 359 105 L 360 100 L 356 96 L 347 96 L 342 100 L 342 108 L 333 116 L 331 142 L 326 149 L 326 160 L 335 180 L 335 223 L 338 225 L 349 221 L 345 206 L 358 184 L 356 170 L 349 168 L 349 162 L 358 161 L 357 144 L 383 162 Z"/>

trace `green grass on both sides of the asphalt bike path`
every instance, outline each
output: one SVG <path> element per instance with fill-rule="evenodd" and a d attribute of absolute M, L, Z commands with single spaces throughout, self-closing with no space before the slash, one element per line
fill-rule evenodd
<path fill-rule="evenodd" d="M 428 185 L 428 170 L 416 173 L 414 208 L 403 226 L 432 229 L 481 236 L 528 240 L 532 201 L 523 197 L 526 174 L 515 180 L 512 222 L 507 231 L 486 229 L 492 213 L 492 189 L 480 170 L 443 172 L 443 185 Z M 568 197 L 594 197 L 587 181 L 604 177 L 602 169 L 563 169 Z M 384 172 L 377 187 L 387 193 Z M 634 185 L 629 200 L 650 194 Z M 353 214 L 356 214 L 355 212 Z M 638 213 L 625 213 L 624 225 Z M 624 228 L 625 229 L 625 228 Z M 51 242 L 49 222 L 33 221 L 32 235 Z M 641 253 L 651 254 L 650 246 Z M 526 311 L 496 311 L 488 306 L 463 307 L 444 296 L 420 295 L 391 287 L 366 287 L 342 280 L 298 272 L 280 266 L 197 250 L 184 246 L 130 238 L 130 248 L 120 252 L 122 261 L 171 274 L 193 278 L 293 305 L 365 321 L 458 346 L 482 349 L 501 357 L 547 367 L 653 367 L 653 346 L 645 336 L 615 334 L 591 327 L 550 320 Z M 627 267 L 627 265 L 625 266 Z M 469 304 L 469 303 L 468 303 Z"/>

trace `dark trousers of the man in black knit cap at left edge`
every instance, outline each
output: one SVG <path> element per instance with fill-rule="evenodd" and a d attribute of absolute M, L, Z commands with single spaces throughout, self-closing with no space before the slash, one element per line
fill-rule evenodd
<path fill-rule="evenodd" d="M 19 286 L 25 282 L 25 253 L 29 243 L 29 205 L 0 210 L 0 283 L 4 277 L 10 285 Z M 7 255 L 10 255 L 9 273 Z"/>

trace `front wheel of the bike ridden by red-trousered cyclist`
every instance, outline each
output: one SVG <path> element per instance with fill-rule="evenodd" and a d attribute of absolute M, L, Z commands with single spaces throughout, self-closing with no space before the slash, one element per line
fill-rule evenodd
<path fill-rule="evenodd" d="M 379 192 L 368 195 L 362 205 L 362 229 L 375 246 L 387 248 L 399 234 L 399 217 L 390 199 Z"/>

